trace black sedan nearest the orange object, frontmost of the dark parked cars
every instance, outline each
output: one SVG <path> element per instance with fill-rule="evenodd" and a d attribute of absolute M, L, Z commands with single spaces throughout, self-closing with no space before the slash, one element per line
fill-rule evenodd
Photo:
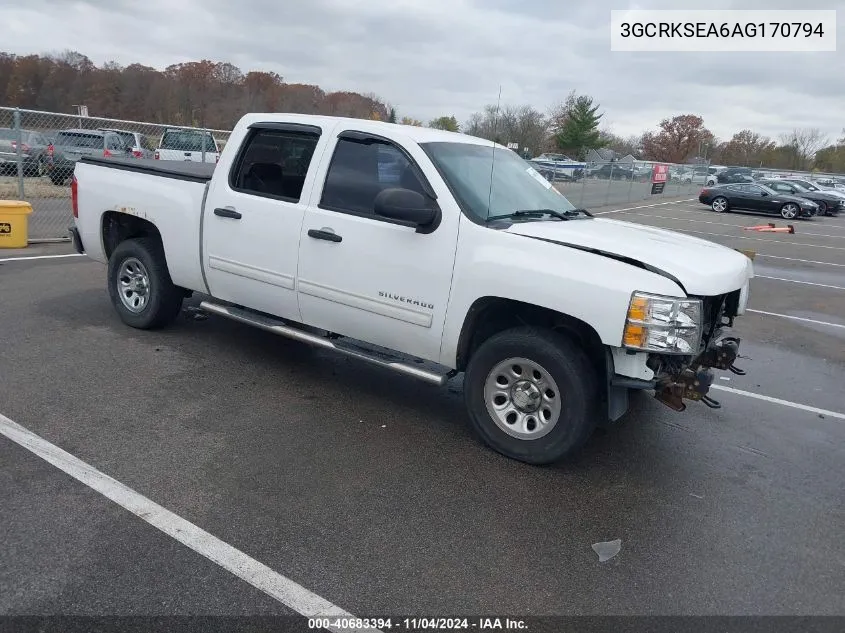
<path fill-rule="evenodd" d="M 734 210 L 777 213 L 784 220 L 811 218 L 819 210 L 819 206 L 812 200 L 748 183 L 705 187 L 698 195 L 698 200 L 709 205 L 716 213 Z"/>

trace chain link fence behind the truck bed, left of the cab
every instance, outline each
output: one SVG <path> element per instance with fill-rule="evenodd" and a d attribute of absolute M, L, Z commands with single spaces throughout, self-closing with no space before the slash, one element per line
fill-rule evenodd
<path fill-rule="evenodd" d="M 0 107 L 0 199 L 32 205 L 30 242 L 64 241 L 70 178 L 83 156 L 215 163 L 230 133 Z"/>

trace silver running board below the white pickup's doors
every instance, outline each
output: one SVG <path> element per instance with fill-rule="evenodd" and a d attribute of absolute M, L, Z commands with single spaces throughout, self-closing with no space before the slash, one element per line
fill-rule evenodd
<path fill-rule="evenodd" d="M 445 385 L 450 378 L 450 375 L 448 373 L 438 374 L 435 372 L 426 371 L 425 369 L 420 369 L 419 367 L 412 367 L 411 365 L 406 365 L 405 363 L 400 363 L 398 361 L 378 358 L 372 354 L 368 354 L 366 351 L 360 348 L 354 350 L 348 349 L 343 345 L 338 345 L 337 343 L 331 341 L 328 338 L 309 334 L 308 332 L 303 332 L 302 330 L 298 330 L 285 324 L 283 321 L 256 314 L 248 310 L 243 310 L 241 308 L 224 306 L 218 303 L 211 303 L 209 301 L 201 302 L 199 308 L 204 312 L 226 317 L 227 319 L 232 319 L 233 321 L 238 321 L 240 323 L 246 323 L 247 325 L 252 325 L 253 327 L 257 327 L 262 330 L 267 330 L 268 332 L 278 334 L 279 336 L 285 336 L 287 338 L 291 338 L 295 341 L 300 341 L 302 343 L 309 343 L 310 345 L 315 345 L 317 347 L 331 349 L 336 352 L 340 352 L 341 354 L 345 354 L 346 356 L 357 358 L 358 360 L 363 360 L 373 365 L 378 365 L 379 367 L 392 369 L 393 371 L 398 372 L 400 374 L 413 376 L 414 378 L 424 380 L 425 382 L 437 385 L 439 387 Z"/>

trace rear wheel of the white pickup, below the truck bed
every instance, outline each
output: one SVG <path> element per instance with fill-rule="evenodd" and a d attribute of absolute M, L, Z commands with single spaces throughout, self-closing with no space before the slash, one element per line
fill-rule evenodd
<path fill-rule="evenodd" d="M 121 242 L 109 257 L 108 287 L 120 320 L 141 330 L 173 322 L 184 295 L 173 285 L 164 249 L 153 237 Z"/>

